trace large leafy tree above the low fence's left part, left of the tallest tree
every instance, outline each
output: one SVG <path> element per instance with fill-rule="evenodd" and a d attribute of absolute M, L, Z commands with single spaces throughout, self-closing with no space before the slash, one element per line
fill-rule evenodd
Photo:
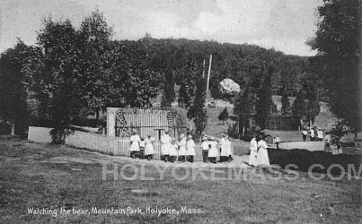
<path fill-rule="evenodd" d="M 40 100 L 41 118 L 49 117 L 55 129 L 53 140 L 64 142 L 68 125 L 84 108 L 77 70 L 80 58 L 80 37 L 68 20 L 54 22 L 44 20 L 44 28 L 38 34 L 39 47 L 29 47 L 29 55 L 23 64 L 29 90 Z"/>

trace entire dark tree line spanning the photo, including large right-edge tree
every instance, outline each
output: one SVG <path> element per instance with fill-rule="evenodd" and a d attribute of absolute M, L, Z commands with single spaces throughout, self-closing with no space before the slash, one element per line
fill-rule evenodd
<path fill-rule="evenodd" d="M 163 106 L 178 96 L 179 105 L 188 109 L 202 132 L 206 125 L 203 73 L 212 55 L 211 96 L 234 102 L 234 114 L 242 125 L 252 114 L 260 126 L 268 125 L 274 109 L 272 94 L 282 96 L 282 112 L 296 119 L 313 120 L 318 101 L 324 100 L 332 112 L 353 125 L 359 115 L 355 107 L 359 8 L 359 0 L 325 0 L 319 8 L 319 30 L 309 40 L 320 54 L 309 58 L 254 45 L 153 39 L 149 34 L 138 40 L 113 40 L 113 30 L 99 11 L 86 17 L 78 29 L 68 20 L 47 18 L 36 45 L 19 39 L 0 56 L 0 113 L 3 120 L 22 126 L 31 121 L 64 127 L 81 123 L 84 109 L 151 107 L 162 93 Z M 242 87 L 237 96 L 219 90 L 225 78 Z M 289 97 L 296 97 L 294 107 Z M 39 102 L 39 117 L 27 119 L 31 116 L 27 99 Z"/>

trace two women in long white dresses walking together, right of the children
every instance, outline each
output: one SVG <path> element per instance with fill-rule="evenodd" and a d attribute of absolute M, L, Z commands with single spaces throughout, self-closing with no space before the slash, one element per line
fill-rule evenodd
<path fill-rule="evenodd" d="M 265 142 L 265 136 L 261 135 L 258 139 L 252 135 L 250 142 L 249 165 L 257 167 L 269 167 L 268 144 Z"/>

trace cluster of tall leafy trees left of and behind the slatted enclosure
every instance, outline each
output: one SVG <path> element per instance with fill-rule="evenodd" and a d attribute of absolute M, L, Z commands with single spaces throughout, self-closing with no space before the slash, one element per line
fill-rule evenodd
<path fill-rule="evenodd" d="M 1 56 L 2 96 L 39 100 L 40 121 L 49 120 L 57 134 L 79 122 L 83 108 L 150 107 L 161 80 L 150 68 L 152 57 L 140 41 L 110 38 L 111 29 L 98 11 L 79 30 L 68 20 L 45 19 L 37 46 L 20 43 Z M 5 83 L 16 88 L 5 89 Z M 0 103 L 9 105 L 5 98 Z M 10 114 L 20 115 L 21 109 L 2 109 L 4 118 L 13 118 Z"/>

